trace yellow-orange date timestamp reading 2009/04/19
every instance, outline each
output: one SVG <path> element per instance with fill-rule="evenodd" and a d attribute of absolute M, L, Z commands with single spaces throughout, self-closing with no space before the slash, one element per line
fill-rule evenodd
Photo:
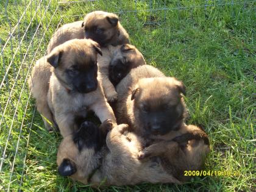
<path fill-rule="evenodd" d="M 184 171 L 184 176 L 240 176 L 240 171 Z"/>

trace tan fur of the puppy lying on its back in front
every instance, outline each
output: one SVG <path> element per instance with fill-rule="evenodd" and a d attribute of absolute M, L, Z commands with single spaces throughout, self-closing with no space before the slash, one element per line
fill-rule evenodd
<path fill-rule="evenodd" d="M 138 160 L 138 153 L 143 149 L 144 141 L 134 133 L 124 135 L 127 127 L 126 124 L 121 124 L 110 130 L 106 138 L 107 146 L 94 154 L 90 149 L 79 152 L 72 141 L 72 135 L 68 135 L 60 144 L 57 164 L 60 166 L 62 161 L 68 158 L 77 167 L 77 172 L 71 177 L 88 184 L 88 176 L 99 166 L 99 158 L 102 158 L 102 164 L 91 177 L 90 183 L 94 187 L 136 185 L 141 182 L 180 183 L 163 169 L 158 158 L 146 162 Z"/>

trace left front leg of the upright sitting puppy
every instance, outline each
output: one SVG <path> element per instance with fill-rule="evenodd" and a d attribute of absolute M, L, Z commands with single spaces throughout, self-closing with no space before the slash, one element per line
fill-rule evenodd
<path fill-rule="evenodd" d="M 59 126 L 62 137 L 66 137 L 67 135 L 73 133 L 77 128 L 76 123 L 74 122 L 74 115 L 71 113 L 55 114 L 55 119 Z"/>

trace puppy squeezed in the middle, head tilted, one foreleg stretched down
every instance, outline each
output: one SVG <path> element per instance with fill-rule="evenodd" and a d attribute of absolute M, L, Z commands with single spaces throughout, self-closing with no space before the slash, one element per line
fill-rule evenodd
<path fill-rule="evenodd" d="M 131 44 L 109 45 L 102 48 L 102 56 L 98 55 L 98 66 L 108 101 L 112 102 L 117 98 L 114 86 L 129 73 L 130 69 L 140 65 L 146 65 L 144 57 Z"/>

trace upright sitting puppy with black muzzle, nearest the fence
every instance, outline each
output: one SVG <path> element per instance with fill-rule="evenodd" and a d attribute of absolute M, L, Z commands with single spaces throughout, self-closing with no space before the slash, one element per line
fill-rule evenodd
<path fill-rule="evenodd" d="M 98 43 L 75 39 L 57 46 L 46 57 L 52 71 L 47 104 L 63 137 L 77 129 L 74 121 L 84 118 L 88 110 L 96 113 L 101 121 L 113 119 L 115 122 L 113 110 L 97 79 L 97 54 L 102 54 Z M 44 80 L 42 82 L 45 84 Z M 33 86 L 40 87 L 40 83 Z"/>

